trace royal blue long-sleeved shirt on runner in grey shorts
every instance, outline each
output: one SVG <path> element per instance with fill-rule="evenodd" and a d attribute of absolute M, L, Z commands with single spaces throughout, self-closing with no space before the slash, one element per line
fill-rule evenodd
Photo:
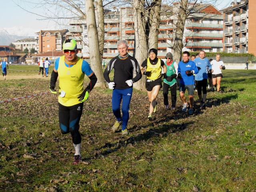
<path fill-rule="evenodd" d="M 184 63 L 183 61 L 180 61 L 178 63 L 178 73 L 181 74 L 181 79 L 180 79 L 180 84 L 183 85 L 194 85 L 194 76 L 193 75 L 186 75 L 186 71 L 190 70 L 190 71 L 194 71 L 194 74 L 198 73 L 198 69 L 196 67 L 196 63 L 194 63 L 193 61 L 188 61 L 186 63 Z"/>

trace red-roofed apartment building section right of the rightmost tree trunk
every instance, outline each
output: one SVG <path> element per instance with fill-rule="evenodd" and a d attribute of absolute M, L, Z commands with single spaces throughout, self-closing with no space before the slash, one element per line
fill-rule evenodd
<path fill-rule="evenodd" d="M 223 16 L 211 4 L 190 4 L 192 13 L 185 28 L 186 51 L 221 52 L 223 50 Z"/>

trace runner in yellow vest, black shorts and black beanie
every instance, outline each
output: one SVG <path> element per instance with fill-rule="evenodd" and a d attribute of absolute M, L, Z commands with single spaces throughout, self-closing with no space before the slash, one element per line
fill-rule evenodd
<path fill-rule="evenodd" d="M 159 90 L 162 87 L 162 76 L 166 66 L 164 61 L 157 58 L 157 50 L 152 48 L 149 50 L 149 58 L 143 61 L 140 70 L 144 70 L 143 74 L 147 76 L 146 80 L 146 90 L 148 93 L 148 99 L 150 101 L 150 108 L 148 113 L 148 120 L 152 121 L 152 113 L 156 112 L 156 97 Z M 145 70 L 146 69 L 146 70 Z"/>

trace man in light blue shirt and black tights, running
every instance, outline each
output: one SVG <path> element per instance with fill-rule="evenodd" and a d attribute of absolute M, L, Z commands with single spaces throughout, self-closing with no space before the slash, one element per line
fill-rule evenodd
<path fill-rule="evenodd" d="M 199 70 L 199 72 L 195 76 L 196 80 L 196 88 L 198 92 L 198 97 L 201 102 L 201 107 L 205 107 L 205 101 L 206 101 L 206 95 L 207 95 L 207 69 L 209 71 L 212 71 L 212 65 L 209 61 L 209 59 L 205 58 L 205 52 L 200 51 L 199 57 L 194 60 L 196 63 L 196 66 Z M 203 95 L 202 95 L 202 89 L 203 89 Z"/>

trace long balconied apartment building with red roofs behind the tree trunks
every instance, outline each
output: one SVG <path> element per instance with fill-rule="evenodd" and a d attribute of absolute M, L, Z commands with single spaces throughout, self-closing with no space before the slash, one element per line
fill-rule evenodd
<path fill-rule="evenodd" d="M 190 14 L 186 21 L 184 32 L 184 49 L 188 51 L 222 51 L 223 16 L 211 4 L 191 4 L 194 14 Z M 175 39 L 174 26 L 177 22 L 176 6 L 163 5 L 161 7 L 160 26 L 158 34 L 158 56 L 165 57 L 167 52 L 173 52 Z M 97 15 L 96 15 L 97 16 Z M 115 10 L 105 10 L 104 13 L 104 53 L 103 58 L 115 57 L 118 54 L 118 40 L 126 40 L 130 55 L 134 51 L 134 21 L 133 8 L 120 7 Z M 89 57 L 86 20 L 73 20 L 70 25 L 73 38 L 82 44 L 82 53 Z M 79 32 L 79 33 L 78 33 Z M 72 36 L 72 33 L 70 35 Z M 78 34 L 78 36 L 76 36 Z M 69 36 L 69 38 L 71 38 Z"/>

